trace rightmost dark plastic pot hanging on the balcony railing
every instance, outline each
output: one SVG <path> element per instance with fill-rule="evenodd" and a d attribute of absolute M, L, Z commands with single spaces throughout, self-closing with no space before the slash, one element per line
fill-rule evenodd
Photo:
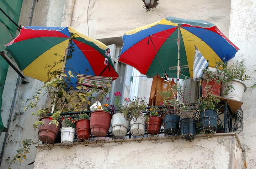
<path fill-rule="evenodd" d="M 200 121 L 202 132 L 216 132 L 217 130 L 217 111 L 213 109 L 204 109 L 200 112 Z"/>

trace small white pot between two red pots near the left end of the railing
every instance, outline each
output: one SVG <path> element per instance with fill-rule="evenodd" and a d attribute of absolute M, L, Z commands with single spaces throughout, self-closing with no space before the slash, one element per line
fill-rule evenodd
<path fill-rule="evenodd" d="M 62 144 L 73 144 L 76 130 L 73 127 L 60 128 L 60 137 Z"/>

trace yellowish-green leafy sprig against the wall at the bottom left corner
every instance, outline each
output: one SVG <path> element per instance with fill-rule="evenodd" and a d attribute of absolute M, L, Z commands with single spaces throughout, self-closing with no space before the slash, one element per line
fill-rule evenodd
<path fill-rule="evenodd" d="M 23 163 L 24 162 L 23 159 L 27 158 L 26 155 L 27 155 L 27 153 L 30 153 L 30 151 L 29 151 L 30 146 L 33 145 L 34 142 L 32 139 L 26 139 L 26 140 L 22 140 L 22 144 L 23 144 L 23 147 L 19 150 L 16 150 L 17 154 L 14 157 L 12 157 L 12 161 L 10 162 L 8 169 L 11 169 L 12 163 L 15 163 L 15 162 Z"/>

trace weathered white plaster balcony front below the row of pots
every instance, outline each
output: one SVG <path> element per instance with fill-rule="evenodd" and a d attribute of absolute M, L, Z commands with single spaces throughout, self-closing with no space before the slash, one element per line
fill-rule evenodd
<path fill-rule="evenodd" d="M 122 145 L 105 142 L 102 146 L 75 144 L 65 148 L 55 144 L 52 151 L 37 149 L 34 169 L 241 169 L 244 164 L 237 141 L 233 133 L 213 138 L 198 135 L 193 142 L 164 137 L 140 143 L 127 139 Z"/>

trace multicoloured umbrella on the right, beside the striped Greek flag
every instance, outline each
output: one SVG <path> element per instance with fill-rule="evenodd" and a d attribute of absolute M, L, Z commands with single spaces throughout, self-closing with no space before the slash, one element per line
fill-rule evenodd
<path fill-rule="evenodd" d="M 131 30 L 123 41 L 119 61 L 147 77 L 165 71 L 174 78 L 193 77 L 195 45 L 210 67 L 230 60 L 239 49 L 212 23 L 174 17 Z"/>

